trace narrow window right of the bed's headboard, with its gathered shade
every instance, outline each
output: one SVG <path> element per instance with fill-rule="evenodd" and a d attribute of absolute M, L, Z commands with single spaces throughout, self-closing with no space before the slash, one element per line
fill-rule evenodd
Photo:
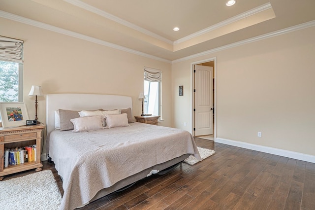
<path fill-rule="evenodd" d="M 144 113 L 161 116 L 162 71 L 144 68 Z"/>

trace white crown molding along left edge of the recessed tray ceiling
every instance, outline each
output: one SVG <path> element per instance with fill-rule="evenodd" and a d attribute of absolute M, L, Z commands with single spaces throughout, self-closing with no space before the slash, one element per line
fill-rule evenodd
<path fill-rule="evenodd" d="M 101 9 L 98 9 L 98 8 L 96 8 L 94 6 L 91 6 L 90 4 L 84 3 L 84 2 L 82 2 L 80 0 L 64 0 L 64 1 L 66 1 L 66 2 L 68 2 L 70 4 L 72 4 L 72 5 L 75 5 L 77 7 L 80 7 L 82 9 L 85 9 L 85 10 L 88 10 L 90 12 L 93 12 L 93 13 L 95 13 L 97 15 L 102 16 L 102 17 L 105 17 L 107 19 L 110 19 L 112 21 L 115 21 L 115 22 L 117 22 L 119 24 L 122 24 L 122 25 L 124 25 L 124 26 L 126 26 L 128 28 L 134 29 L 134 30 L 136 30 L 138 32 L 141 32 L 143 34 L 150 35 L 150 36 L 152 36 L 154 38 L 157 38 L 157 39 L 159 39 L 161 41 L 164 41 L 164 42 L 166 42 L 168 44 L 173 44 L 173 41 L 171 41 L 171 40 L 169 40 L 169 39 L 167 39 L 167 38 L 165 38 L 163 36 L 160 36 L 160 35 L 157 35 L 157 34 L 155 34 L 153 32 L 150 32 L 150 31 L 148 31 L 148 30 L 146 30 L 144 28 L 141 28 L 141 27 L 139 27 L 137 25 L 134 25 L 134 24 L 132 24 L 132 23 L 130 23 L 130 22 L 124 20 L 124 19 L 116 17 L 115 15 L 112 15 L 112 14 L 110 14 L 108 12 L 105 12 L 105 11 L 103 11 Z"/>

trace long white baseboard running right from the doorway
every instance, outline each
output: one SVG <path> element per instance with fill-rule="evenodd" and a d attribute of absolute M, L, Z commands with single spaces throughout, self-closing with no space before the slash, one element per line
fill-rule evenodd
<path fill-rule="evenodd" d="M 308 154 L 293 152 L 293 151 L 284 150 L 284 149 L 277 149 L 273 147 L 261 146 L 257 144 L 246 143 L 246 142 L 236 141 L 236 140 L 227 140 L 227 139 L 222 139 L 222 138 L 217 138 L 216 142 L 315 163 L 314 155 L 308 155 Z"/>

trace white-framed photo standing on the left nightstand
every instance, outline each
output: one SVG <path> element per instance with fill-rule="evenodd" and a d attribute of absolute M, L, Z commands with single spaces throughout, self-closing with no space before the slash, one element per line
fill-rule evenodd
<path fill-rule="evenodd" d="M 3 128 L 26 125 L 26 120 L 29 119 L 23 102 L 1 102 L 0 114 Z"/>

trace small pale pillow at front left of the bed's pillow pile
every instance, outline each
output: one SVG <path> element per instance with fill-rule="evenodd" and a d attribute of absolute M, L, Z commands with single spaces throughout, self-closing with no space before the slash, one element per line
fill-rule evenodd
<path fill-rule="evenodd" d="M 95 131 L 104 129 L 104 118 L 101 115 L 92 117 L 78 117 L 71 119 L 70 121 L 73 123 L 74 127 L 72 132 Z"/>

